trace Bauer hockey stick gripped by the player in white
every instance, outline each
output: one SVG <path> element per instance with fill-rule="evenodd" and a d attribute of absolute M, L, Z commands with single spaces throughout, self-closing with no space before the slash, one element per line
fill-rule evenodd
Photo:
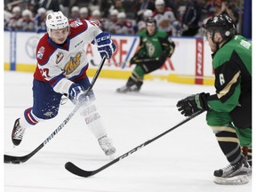
<path fill-rule="evenodd" d="M 98 76 L 100 75 L 100 71 L 101 71 L 101 68 L 104 65 L 105 60 L 106 60 L 106 57 L 103 57 L 102 60 L 100 61 L 100 66 L 97 69 L 95 75 L 93 76 L 92 83 L 89 86 L 89 88 L 85 91 L 85 94 L 92 90 L 93 85 L 95 84 Z M 74 116 L 76 114 L 76 111 L 80 107 L 81 107 L 81 105 L 76 105 L 76 108 L 73 109 L 73 111 L 68 115 L 68 117 L 62 122 L 62 124 L 60 124 L 60 126 L 54 132 L 52 132 L 52 134 L 46 140 L 44 140 L 44 142 L 41 143 L 36 149 L 34 149 L 31 153 L 29 153 L 26 156 L 8 156 L 8 155 L 4 155 L 4 163 L 5 164 L 20 164 L 20 163 L 24 163 L 24 162 L 28 161 L 28 159 L 31 158 L 32 156 L 34 156 L 41 148 L 44 148 L 44 146 L 50 140 L 52 140 L 52 138 L 58 132 L 60 132 L 60 130 L 65 126 L 65 124 L 68 124 L 68 121 L 72 118 L 72 116 Z"/>

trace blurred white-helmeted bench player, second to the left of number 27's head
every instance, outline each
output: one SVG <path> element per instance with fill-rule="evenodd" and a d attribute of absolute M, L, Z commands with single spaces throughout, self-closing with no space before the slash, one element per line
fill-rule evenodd
<path fill-rule="evenodd" d="M 28 9 L 23 10 L 22 18 L 20 18 L 19 22 L 21 30 L 35 31 L 35 22 L 32 20 L 32 12 L 30 12 Z"/>

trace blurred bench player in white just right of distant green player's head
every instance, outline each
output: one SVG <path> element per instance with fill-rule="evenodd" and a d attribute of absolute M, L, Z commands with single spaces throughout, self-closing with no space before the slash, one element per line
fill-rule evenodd
<path fill-rule="evenodd" d="M 156 11 L 153 17 L 156 19 L 157 28 L 172 36 L 172 22 L 176 20 L 171 8 L 166 7 L 164 0 L 156 0 Z"/>

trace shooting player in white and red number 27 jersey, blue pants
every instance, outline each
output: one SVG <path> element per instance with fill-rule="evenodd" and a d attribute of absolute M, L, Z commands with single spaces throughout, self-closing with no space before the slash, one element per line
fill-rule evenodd
<path fill-rule="evenodd" d="M 107 156 L 116 152 L 112 140 L 100 121 L 100 114 L 93 103 L 92 91 L 85 94 L 90 86 L 86 70 L 88 60 L 85 44 L 98 46 L 101 58 L 112 57 L 116 45 L 110 34 L 103 32 L 99 22 L 91 20 L 69 20 L 62 12 L 52 12 L 46 17 L 47 33 L 36 47 L 36 71 L 33 81 L 33 107 L 27 108 L 12 130 L 12 143 L 19 146 L 25 130 L 41 121 L 58 115 L 60 100 L 68 96 L 76 105 L 82 105 L 80 114 L 99 141 L 100 148 Z M 85 102 L 84 102 L 85 101 Z"/>

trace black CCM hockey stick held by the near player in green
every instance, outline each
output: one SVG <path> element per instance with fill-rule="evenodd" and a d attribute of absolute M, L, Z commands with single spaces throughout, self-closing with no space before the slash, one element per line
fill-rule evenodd
<path fill-rule="evenodd" d="M 148 140 L 142 144 L 140 144 L 139 146 L 137 146 L 136 148 L 132 148 L 132 150 L 124 153 L 124 155 L 117 157 L 116 159 L 114 159 L 113 161 L 109 162 L 108 164 L 105 164 L 103 166 L 101 166 L 99 169 L 93 170 L 93 171 L 85 171 L 79 167 L 76 166 L 76 164 L 73 164 L 71 162 L 68 162 L 65 164 L 65 168 L 68 170 L 68 172 L 72 172 L 73 174 L 80 176 L 80 177 L 90 177 L 98 172 L 101 172 L 102 170 L 105 170 L 106 168 L 108 168 L 110 165 L 112 164 L 116 164 L 116 162 L 121 161 L 122 159 L 124 159 L 126 156 L 130 156 L 132 153 L 136 152 L 137 150 L 139 150 L 140 148 L 144 148 L 145 146 L 147 146 L 149 143 L 153 142 L 154 140 L 159 139 L 160 137 L 164 136 L 166 133 L 168 132 L 172 132 L 172 130 L 176 129 L 177 127 L 179 127 L 181 124 L 185 124 L 187 123 L 189 120 L 193 119 L 196 116 L 199 116 L 200 114 L 202 114 L 204 112 L 204 110 L 202 111 L 198 111 L 196 112 L 194 115 L 189 116 L 188 118 L 184 119 L 183 121 L 181 121 L 179 124 L 174 125 L 172 128 L 170 128 L 169 130 L 162 132 L 161 134 L 157 135 L 155 138 L 152 138 L 151 140 Z"/>

